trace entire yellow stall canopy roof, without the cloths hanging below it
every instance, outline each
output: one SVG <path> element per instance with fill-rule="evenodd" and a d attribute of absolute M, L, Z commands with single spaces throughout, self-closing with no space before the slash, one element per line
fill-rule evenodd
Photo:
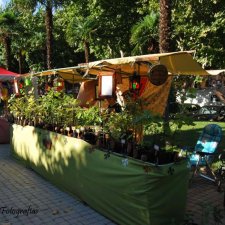
<path fill-rule="evenodd" d="M 96 78 L 102 71 L 115 71 L 124 77 L 131 76 L 137 70 L 137 65 L 139 65 L 139 74 L 146 76 L 149 69 L 156 64 L 164 64 L 171 75 L 215 75 L 204 70 L 194 59 L 193 53 L 194 51 L 182 51 L 104 59 L 75 67 L 24 74 L 24 76 L 59 75 L 70 83 L 77 83 Z"/>

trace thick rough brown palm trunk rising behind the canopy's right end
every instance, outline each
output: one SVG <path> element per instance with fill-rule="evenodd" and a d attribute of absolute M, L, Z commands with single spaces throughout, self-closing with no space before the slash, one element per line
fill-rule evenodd
<path fill-rule="evenodd" d="M 160 0 L 159 50 L 161 53 L 171 50 L 171 0 Z"/>

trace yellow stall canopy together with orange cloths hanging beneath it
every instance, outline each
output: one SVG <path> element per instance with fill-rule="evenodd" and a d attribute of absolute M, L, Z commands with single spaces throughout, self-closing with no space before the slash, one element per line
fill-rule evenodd
<path fill-rule="evenodd" d="M 81 105 L 94 105 L 96 99 L 96 85 L 98 76 L 104 72 L 114 72 L 121 77 L 117 83 L 118 92 L 129 90 L 129 78 L 137 72 L 143 80 L 140 97 L 148 103 L 146 109 L 163 115 L 174 75 L 209 76 L 217 75 L 215 72 L 206 71 L 194 59 L 195 51 L 169 52 L 150 55 L 130 56 L 123 58 L 104 59 L 90 63 L 79 64 L 76 67 L 47 70 L 32 74 L 33 76 L 58 75 L 70 83 L 82 82 L 78 99 Z M 168 70 L 169 77 L 162 85 L 154 85 L 148 80 L 149 71 L 153 66 L 163 64 Z M 221 72 L 221 71 L 220 71 Z M 25 76 L 30 76 L 27 74 Z M 94 81 L 93 81 L 94 79 Z M 92 81 L 90 81 L 92 80 Z"/>

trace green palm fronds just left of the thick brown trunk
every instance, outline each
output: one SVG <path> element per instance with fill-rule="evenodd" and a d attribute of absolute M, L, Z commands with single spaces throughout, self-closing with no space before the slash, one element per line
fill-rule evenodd
<path fill-rule="evenodd" d="M 151 12 L 132 27 L 130 42 L 135 46 L 134 54 L 158 52 L 158 22 L 159 15 Z"/>

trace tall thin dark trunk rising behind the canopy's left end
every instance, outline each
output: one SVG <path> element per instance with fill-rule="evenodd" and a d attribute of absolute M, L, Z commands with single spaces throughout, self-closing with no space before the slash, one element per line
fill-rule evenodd
<path fill-rule="evenodd" d="M 45 26 L 46 26 L 47 67 L 48 69 L 52 69 L 53 20 L 52 20 L 52 5 L 50 1 L 47 1 Z"/>

